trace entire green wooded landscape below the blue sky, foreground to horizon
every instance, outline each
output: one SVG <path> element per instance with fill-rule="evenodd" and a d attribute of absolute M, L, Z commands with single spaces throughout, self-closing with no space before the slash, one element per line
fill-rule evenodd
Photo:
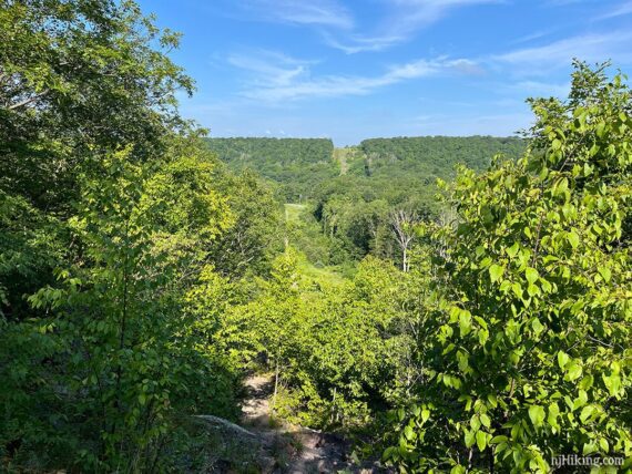
<path fill-rule="evenodd" d="M 623 74 L 575 62 L 520 138 L 335 150 L 207 138 L 179 39 L 0 3 L 2 471 L 632 468 Z"/>

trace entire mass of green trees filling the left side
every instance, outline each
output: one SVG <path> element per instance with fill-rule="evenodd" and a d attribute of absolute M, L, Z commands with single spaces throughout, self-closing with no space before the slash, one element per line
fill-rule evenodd
<path fill-rule="evenodd" d="M 191 81 L 155 49 L 177 37 L 133 2 L 35 0 L 3 2 L 0 42 L 2 468 L 169 468 L 179 419 L 239 394 L 191 330 L 241 216 L 177 116 Z"/>

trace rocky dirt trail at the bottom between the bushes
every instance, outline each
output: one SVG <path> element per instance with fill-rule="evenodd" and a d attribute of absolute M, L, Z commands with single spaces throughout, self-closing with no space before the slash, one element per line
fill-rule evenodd
<path fill-rule="evenodd" d="M 354 466 L 346 460 L 348 444 L 339 436 L 303 426 L 271 420 L 269 377 L 254 375 L 246 380 L 249 396 L 243 406 L 244 427 L 258 434 L 271 458 L 274 473 L 371 473 L 374 468 Z"/>

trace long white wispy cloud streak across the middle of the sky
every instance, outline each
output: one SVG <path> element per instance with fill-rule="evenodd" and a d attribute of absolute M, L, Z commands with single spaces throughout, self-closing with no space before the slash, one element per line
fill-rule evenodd
<path fill-rule="evenodd" d="M 266 103 L 283 103 L 313 97 L 335 97 L 344 95 L 366 95 L 380 87 L 438 74 L 478 74 L 481 68 L 467 59 L 436 58 L 420 59 L 405 64 L 393 65 L 383 74 L 322 75 L 313 76 L 309 61 L 292 59 L 267 52 L 262 59 L 233 55 L 230 64 L 246 72 L 242 95 Z M 277 61 L 272 64 L 271 59 Z"/>

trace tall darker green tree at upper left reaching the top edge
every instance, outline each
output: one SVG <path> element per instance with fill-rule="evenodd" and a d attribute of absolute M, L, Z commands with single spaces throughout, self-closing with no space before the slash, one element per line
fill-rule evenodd
<path fill-rule="evenodd" d="M 0 188 L 68 213 L 90 156 L 133 144 L 149 159 L 184 125 L 174 93 L 192 81 L 155 50 L 179 37 L 133 1 L 1 4 Z"/>

